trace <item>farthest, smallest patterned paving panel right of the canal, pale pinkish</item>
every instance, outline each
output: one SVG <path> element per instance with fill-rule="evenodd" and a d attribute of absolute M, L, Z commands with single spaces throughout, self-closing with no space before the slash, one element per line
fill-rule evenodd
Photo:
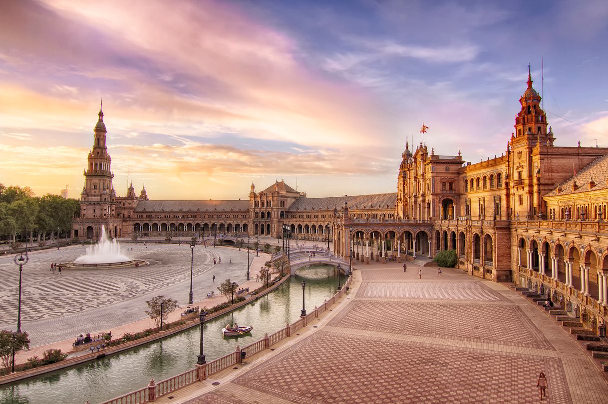
<path fill-rule="evenodd" d="M 370 282 L 364 283 L 357 297 L 421 298 L 433 300 L 506 300 L 480 282 Z"/>

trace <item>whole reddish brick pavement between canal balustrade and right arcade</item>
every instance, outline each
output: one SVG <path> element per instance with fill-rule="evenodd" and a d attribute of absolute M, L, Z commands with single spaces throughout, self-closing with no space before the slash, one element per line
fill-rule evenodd
<path fill-rule="evenodd" d="M 457 269 L 401 265 L 356 263 L 350 294 L 320 321 L 156 402 L 537 403 L 542 371 L 543 402 L 608 403 L 589 355 L 521 295 Z"/>

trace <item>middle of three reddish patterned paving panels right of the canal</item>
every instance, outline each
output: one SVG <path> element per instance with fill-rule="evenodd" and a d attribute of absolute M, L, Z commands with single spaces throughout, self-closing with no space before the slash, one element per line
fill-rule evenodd
<path fill-rule="evenodd" d="M 512 305 L 353 301 L 328 325 L 396 334 L 554 349 L 522 309 Z"/>

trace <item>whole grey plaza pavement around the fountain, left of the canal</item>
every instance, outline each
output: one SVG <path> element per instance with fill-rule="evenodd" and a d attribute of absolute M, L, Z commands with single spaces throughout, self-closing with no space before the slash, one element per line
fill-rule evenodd
<path fill-rule="evenodd" d="M 133 251 L 131 251 L 133 248 Z M 126 251 L 129 249 L 129 251 Z M 50 272 L 50 263 L 74 260 L 84 254 L 85 247 L 70 246 L 60 250 L 30 253 L 30 261 L 23 267 L 21 329 L 32 340 L 30 349 L 16 355 L 16 363 L 27 358 L 42 357 L 46 349 L 72 350 L 78 334 L 97 335 L 112 332 L 118 338 L 125 332 L 152 328 L 154 322 L 145 315 L 146 300 L 162 294 L 178 300 L 180 308 L 172 312 L 168 321 L 181 318 L 188 306 L 190 291 L 190 246 L 182 244 L 124 244 L 123 250 L 133 258 L 150 264 L 139 268 L 108 270 L 66 270 L 61 275 Z M 0 258 L 0 327 L 16 328 L 18 276 L 14 255 Z M 213 258 L 221 263 L 213 264 Z M 232 263 L 230 263 L 232 258 Z M 246 281 L 247 252 L 233 247 L 196 246 L 193 256 L 192 306 L 212 307 L 226 301 L 217 287 L 226 278 L 236 281 L 241 288 L 257 289 L 255 275 L 268 261 L 269 255 L 249 254 L 250 281 Z M 213 275 L 216 276 L 213 283 Z M 214 291 L 211 298 L 207 293 Z M 85 354 L 86 351 L 71 355 Z"/>

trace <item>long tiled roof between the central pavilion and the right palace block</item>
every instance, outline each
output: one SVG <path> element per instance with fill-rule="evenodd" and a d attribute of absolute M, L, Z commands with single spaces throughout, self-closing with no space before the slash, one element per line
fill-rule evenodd
<path fill-rule="evenodd" d="M 392 209 L 397 202 L 397 194 L 354 195 L 349 197 L 302 198 L 289 206 L 289 212 L 294 210 L 333 210 L 344 206 L 348 201 L 348 209 Z"/>

